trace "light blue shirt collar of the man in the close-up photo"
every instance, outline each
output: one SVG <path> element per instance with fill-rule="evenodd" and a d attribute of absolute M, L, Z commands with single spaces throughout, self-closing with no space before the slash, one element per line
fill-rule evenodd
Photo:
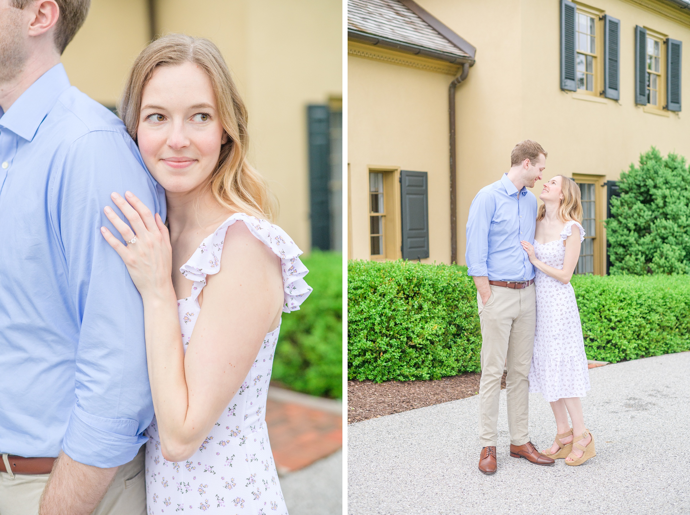
<path fill-rule="evenodd" d="M 31 141 L 46 114 L 55 105 L 57 97 L 70 87 L 70 79 L 62 63 L 41 75 L 21 94 L 5 114 L 0 116 L 0 127 Z M 0 113 L 2 110 L 0 110 Z"/>

